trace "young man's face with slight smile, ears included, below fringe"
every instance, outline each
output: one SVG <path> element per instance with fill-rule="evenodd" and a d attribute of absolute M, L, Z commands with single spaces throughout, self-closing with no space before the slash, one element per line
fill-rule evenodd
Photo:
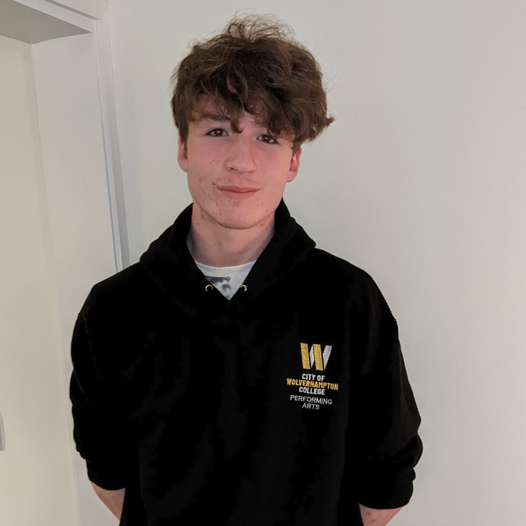
<path fill-rule="evenodd" d="M 273 137 L 264 124 L 243 114 L 235 133 L 211 104 L 179 139 L 179 166 L 194 200 L 193 221 L 246 229 L 274 220 L 285 185 L 296 177 L 301 149 L 289 137 Z"/>

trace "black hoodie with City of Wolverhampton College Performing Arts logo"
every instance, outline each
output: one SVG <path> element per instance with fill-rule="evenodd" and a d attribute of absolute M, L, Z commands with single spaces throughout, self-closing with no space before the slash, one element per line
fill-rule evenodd
<path fill-rule="evenodd" d="M 90 480 L 121 524 L 361 525 L 412 493 L 420 417 L 373 280 L 319 249 L 284 203 L 230 301 L 186 247 L 191 207 L 97 284 L 71 398 Z"/>

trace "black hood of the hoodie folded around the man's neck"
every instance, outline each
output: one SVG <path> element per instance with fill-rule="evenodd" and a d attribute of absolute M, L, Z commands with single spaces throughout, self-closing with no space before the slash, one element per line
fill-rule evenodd
<path fill-rule="evenodd" d="M 174 224 L 151 243 L 139 261 L 164 294 L 179 300 L 204 294 L 208 285 L 186 245 L 191 213 L 192 205 L 185 208 Z M 290 216 L 283 200 L 276 209 L 274 228 L 274 236 L 245 280 L 246 292 L 243 296 L 247 299 L 274 285 L 299 265 L 316 246 Z"/>

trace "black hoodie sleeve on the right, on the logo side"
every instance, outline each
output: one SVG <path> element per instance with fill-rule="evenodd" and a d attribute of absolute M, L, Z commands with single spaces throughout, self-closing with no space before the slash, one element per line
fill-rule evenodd
<path fill-rule="evenodd" d="M 369 508 L 399 508 L 413 492 L 422 453 L 420 415 L 404 366 L 395 318 L 372 279 L 362 303 L 362 345 L 355 363 L 357 406 L 353 439 L 357 500 Z"/>

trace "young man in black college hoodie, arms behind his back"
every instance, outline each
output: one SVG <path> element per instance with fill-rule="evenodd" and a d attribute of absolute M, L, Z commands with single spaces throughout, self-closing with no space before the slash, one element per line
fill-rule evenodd
<path fill-rule="evenodd" d="M 193 204 L 73 337 L 96 492 L 125 525 L 387 524 L 421 453 L 396 321 L 281 200 L 332 122 L 315 59 L 238 19 L 181 62 L 172 106 Z"/>

